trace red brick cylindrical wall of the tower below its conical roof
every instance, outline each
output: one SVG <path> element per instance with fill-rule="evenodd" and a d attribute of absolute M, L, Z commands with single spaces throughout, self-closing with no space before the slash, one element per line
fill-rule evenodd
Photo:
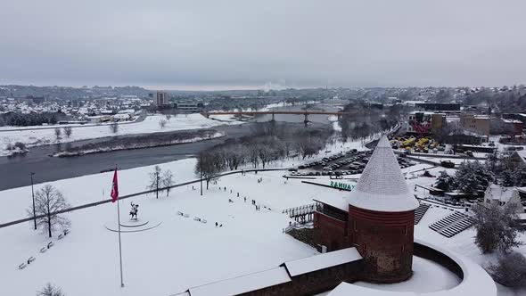
<path fill-rule="evenodd" d="M 349 243 L 364 258 L 364 280 L 397 283 L 412 275 L 415 213 L 376 212 L 349 206 Z"/>

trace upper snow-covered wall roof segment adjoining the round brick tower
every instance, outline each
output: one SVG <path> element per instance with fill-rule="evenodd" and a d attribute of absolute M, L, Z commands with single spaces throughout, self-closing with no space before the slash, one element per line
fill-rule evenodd
<path fill-rule="evenodd" d="M 284 266 L 291 276 L 296 276 L 328 267 L 335 267 L 359 259 L 362 259 L 362 256 L 356 248 L 353 247 L 288 261 L 284 263 Z"/>

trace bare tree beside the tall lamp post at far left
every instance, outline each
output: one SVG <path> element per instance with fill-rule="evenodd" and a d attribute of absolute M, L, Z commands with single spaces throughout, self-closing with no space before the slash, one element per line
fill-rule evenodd
<path fill-rule="evenodd" d="M 41 228 L 42 232 L 47 233 L 52 237 L 52 232 L 57 228 L 62 229 L 70 226 L 70 220 L 62 217 L 62 214 L 56 214 L 57 211 L 67 210 L 70 204 L 66 201 L 60 191 L 53 185 L 45 185 L 42 189 L 35 193 L 35 213 L 41 218 L 37 218 L 37 227 Z M 33 207 L 27 210 L 28 216 L 33 217 Z"/>

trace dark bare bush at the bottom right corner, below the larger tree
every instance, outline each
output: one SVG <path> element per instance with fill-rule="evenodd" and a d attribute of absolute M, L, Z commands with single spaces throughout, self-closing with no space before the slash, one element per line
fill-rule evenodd
<path fill-rule="evenodd" d="M 526 287 L 526 258 L 521 253 L 500 256 L 497 263 L 489 264 L 486 270 L 498 284 L 512 288 Z"/>

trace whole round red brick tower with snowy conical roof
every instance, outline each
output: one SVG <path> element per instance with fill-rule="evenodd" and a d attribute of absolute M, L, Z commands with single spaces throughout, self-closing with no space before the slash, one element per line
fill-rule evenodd
<path fill-rule="evenodd" d="M 363 257 L 365 281 L 398 283 L 412 275 L 418 201 L 382 136 L 349 195 L 349 241 Z"/>

